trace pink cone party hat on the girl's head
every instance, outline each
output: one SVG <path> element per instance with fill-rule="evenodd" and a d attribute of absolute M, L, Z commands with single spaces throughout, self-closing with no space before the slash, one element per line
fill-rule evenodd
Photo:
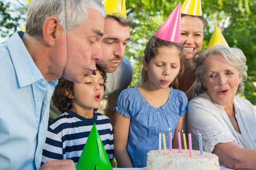
<path fill-rule="evenodd" d="M 181 2 L 167 17 L 155 37 L 165 41 L 181 43 Z"/>

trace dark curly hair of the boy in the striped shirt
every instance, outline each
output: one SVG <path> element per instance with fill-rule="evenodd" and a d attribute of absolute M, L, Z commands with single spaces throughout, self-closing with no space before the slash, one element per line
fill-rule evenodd
<path fill-rule="evenodd" d="M 105 88 L 106 88 L 105 84 L 107 83 L 107 75 L 99 67 L 97 67 L 97 70 L 100 71 L 101 76 L 104 79 L 104 90 L 105 90 Z M 96 75 L 96 72 L 93 71 L 92 74 Z M 87 75 L 84 75 L 84 76 L 87 76 Z M 64 113 L 65 111 L 71 109 L 71 106 L 72 106 L 71 105 L 71 101 L 72 101 L 71 97 L 74 94 L 73 83 L 74 82 L 68 81 L 68 80 L 64 79 L 63 77 L 61 77 L 59 79 L 58 85 L 56 85 L 56 87 L 55 87 L 55 91 L 53 93 L 52 100 L 53 100 L 53 103 L 55 104 L 55 106 L 62 113 Z"/>

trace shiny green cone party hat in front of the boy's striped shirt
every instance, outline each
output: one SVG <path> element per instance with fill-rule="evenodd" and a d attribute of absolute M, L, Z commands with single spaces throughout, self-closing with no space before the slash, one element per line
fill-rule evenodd
<path fill-rule="evenodd" d="M 84 145 L 76 170 L 113 170 L 95 123 Z"/>

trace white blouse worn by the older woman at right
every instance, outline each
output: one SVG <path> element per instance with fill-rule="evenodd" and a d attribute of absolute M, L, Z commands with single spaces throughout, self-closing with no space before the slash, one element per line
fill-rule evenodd
<path fill-rule="evenodd" d="M 234 129 L 224 107 L 214 102 L 207 93 L 192 99 L 187 114 L 192 148 L 199 150 L 199 130 L 206 152 L 211 153 L 216 144 L 233 141 L 243 147 L 256 149 L 256 111 L 253 105 L 247 99 L 235 96 L 234 107 L 241 134 Z"/>

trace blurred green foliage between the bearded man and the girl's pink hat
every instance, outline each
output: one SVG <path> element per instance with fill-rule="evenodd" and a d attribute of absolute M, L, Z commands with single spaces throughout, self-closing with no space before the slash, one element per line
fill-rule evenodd
<path fill-rule="evenodd" d="M 132 39 L 126 50 L 134 69 L 130 86 L 140 84 L 140 68 L 146 42 L 157 32 L 178 3 L 178 0 L 126 0 L 128 15 L 134 17 L 134 24 L 131 26 Z"/>

